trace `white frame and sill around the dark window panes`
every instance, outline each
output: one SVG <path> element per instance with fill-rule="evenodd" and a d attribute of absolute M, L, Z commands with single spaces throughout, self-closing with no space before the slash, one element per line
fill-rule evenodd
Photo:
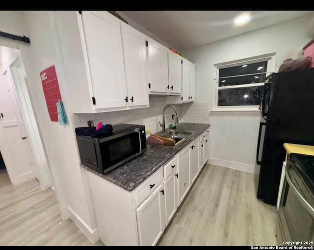
<path fill-rule="evenodd" d="M 249 84 L 241 84 L 241 85 L 232 85 L 232 86 L 223 86 L 219 87 L 219 70 L 223 68 L 229 68 L 234 67 L 238 65 L 243 64 L 249 64 L 249 63 L 256 63 L 256 62 L 262 62 L 267 60 L 267 69 L 266 69 L 266 77 L 274 72 L 275 68 L 275 55 L 276 53 L 269 53 L 269 54 L 263 54 L 259 56 L 249 57 L 249 58 L 243 58 L 235 61 L 229 61 L 224 63 L 217 63 L 214 64 L 214 88 L 213 88 L 213 104 L 212 109 L 210 112 L 214 111 L 260 111 L 259 105 L 247 105 L 247 106 L 218 106 L 218 90 L 219 89 L 233 89 L 233 88 L 245 88 L 245 87 L 252 87 L 252 86 L 262 86 L 264 85 L 264 82 L 260 83 L 249 83 Z M 258 74 L 264 74 L 264 73 L 258 73 Z M 257 75 L 257 74 L 252 74 Z M 232 76 L 231 76 L 232 77 Z M 234 76 L 233 76 L 234 77 Z"/>

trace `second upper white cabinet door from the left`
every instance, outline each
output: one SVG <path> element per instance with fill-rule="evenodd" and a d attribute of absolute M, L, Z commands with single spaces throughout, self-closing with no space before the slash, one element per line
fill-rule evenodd
<path fill-rule="evenodd" d="M 121 22 L 129 106 L 149 105 L 145 35 Z"/>

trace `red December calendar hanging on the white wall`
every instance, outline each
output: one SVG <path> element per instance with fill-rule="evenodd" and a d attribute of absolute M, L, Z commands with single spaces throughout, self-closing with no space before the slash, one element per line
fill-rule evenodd
<path fill-rule="evenodd" d="M 52 122 L 58 121 L 58 111 L 56 103 L 61 100 L 59 83 L 54 65 L 40 73 L 44 95 L 47 103 L 48 113 Z"/>

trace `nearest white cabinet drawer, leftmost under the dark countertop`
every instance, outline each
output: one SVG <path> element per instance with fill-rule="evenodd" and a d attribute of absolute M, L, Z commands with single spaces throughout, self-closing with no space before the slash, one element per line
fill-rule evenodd
<path fill-rule="evenodd" d="M 162 168 L 145 180 L 140 186 L 135 189 L 136 207 L 141 204 L 163 181 Z"/>

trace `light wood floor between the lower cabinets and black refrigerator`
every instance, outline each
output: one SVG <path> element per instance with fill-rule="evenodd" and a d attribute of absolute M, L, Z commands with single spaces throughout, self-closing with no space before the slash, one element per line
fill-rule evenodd
<path fill-rule="evenodd" d="M 274 246 L 276 208 L 256 198 L 258 175 L 207 165 L 159 246 Z"/>

